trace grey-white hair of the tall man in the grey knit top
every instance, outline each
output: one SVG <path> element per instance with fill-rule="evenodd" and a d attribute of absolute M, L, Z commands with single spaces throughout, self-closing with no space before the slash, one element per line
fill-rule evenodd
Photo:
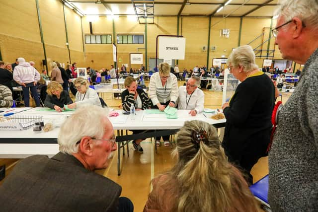
<path fill-rule="evenodd" d="M 285 21 L 299 17 L 306 26 L 318 30 L 318 0 L 280 0 L 275 15 L 284 17 Z"/>

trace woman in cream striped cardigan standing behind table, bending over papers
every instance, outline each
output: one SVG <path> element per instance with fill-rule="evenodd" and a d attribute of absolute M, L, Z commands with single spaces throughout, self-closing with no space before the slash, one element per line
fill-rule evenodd
<path fill-rule="evenodd" d="M 179 96 L 177 77 L 170 73 L 167 63 L 159 64 L 159 71 L 154 73 L 149 82 L 149 96 L 154 108 L 163 111 L 166 106 L 174 107 Z M 169 146 L 169 136 L 162 136 L 164 146 Z M 156 138 L 156 145 L 160 145 L 160 137 Z"/>

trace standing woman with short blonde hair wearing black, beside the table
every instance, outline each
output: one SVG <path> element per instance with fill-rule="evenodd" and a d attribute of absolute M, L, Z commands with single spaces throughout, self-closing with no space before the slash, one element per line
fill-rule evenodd
<path fill-rule="evenodd" d="M 227 119 L 223 146 L 229 160 L 243 168 L 252 182 L 249 172 L 266 155 L 270 142 L 275 88 L 269 77 L 258 70 L 250 46 L 236 48 L 227 63 L 241 83 L 222 106 Z"/>

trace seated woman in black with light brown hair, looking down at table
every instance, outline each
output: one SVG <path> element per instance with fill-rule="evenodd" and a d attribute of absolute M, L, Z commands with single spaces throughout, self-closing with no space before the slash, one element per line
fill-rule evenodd
<path fill-rule="evenodd" d="M 57 112 L 62 112 L 64 105 L 73 103 L 69 93 L 63 90 L 62 85 L 56 81 L 48 84 L 46 92 L 48 95 L 46 95 L 44 101 L 45 107 L 52 108 Z"/>

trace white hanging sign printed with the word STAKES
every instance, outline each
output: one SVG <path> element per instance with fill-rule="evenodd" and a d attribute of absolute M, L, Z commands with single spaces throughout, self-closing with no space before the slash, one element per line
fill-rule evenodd
<path fill-rule="evenodd" d="M 159 37 L 159 58 L 184 60 L 185 38 Z"/>

